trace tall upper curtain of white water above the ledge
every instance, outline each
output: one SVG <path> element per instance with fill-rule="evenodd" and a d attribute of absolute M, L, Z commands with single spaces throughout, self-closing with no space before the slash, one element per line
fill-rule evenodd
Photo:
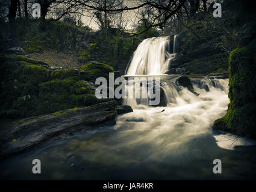
<path fill-rule="evenodd" d="M 175 57 L 176 38 L 173 37 L 173 53 L 170 53 L 170 37 L 153 37 L 143 40 L 134 52 L 126 70 L 126 76 L 165 73 L 170 60 Z"/>

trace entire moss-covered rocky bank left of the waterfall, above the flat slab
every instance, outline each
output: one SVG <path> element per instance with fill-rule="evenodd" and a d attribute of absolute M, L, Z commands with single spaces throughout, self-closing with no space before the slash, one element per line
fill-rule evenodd
<path fill-rule="evenodd" d="M 74 107 L 90 106 L 105 100 L 95 97 L 94 89 L 81 80 L 80 71 L 51 71 L 36 65 L 24 56 L 1 56 L 1 115 L 8 117 L 34 116 Z M 96 77 L 98 68 L 92 64 L 88 71 Z M 106 64 L 98 64 L 113 71 Z M 98 66 L 96 65 L 96 66 Z M 86 68 L 87 65 L 84 65 Z M 107 76 L 108 73 L 105 73 Z"/>

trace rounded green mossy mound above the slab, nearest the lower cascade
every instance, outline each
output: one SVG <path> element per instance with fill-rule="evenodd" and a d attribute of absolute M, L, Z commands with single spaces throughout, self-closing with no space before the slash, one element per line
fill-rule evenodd
<path fill-rule="evenodd" d="M 87 83 L 73 79 L 55 79 L 40 84 L 37 110 L 49 113 L 100 102 L 102 101 L 95 97 L 95 91 Z"/>

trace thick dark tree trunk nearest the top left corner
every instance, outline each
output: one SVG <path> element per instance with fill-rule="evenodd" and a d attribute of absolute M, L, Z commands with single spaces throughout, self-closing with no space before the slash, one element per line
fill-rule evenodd
<path fill-rule="evenodd" d="M 10 35 L 11 35 L 11 47 L 19 46 L 19 35 L 16 30 L 15 17 L 17 13 L 17 4 L 18 0 L 11 0 L 9 7 L 8 20 L 10 26 Z"/>

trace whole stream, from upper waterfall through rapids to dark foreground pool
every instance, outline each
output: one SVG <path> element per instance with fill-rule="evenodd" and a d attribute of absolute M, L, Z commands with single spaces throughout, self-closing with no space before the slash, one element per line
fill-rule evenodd
<path fill-rule="evenodd" d="M 149 55 L 150 50 L 157 49 L 154 43 L 147 41 L 136 50 L 140 52 L 137 57 L 142 54 L 141 47 L 148 50 Z M 166 52 L 167 38 L 153 41 L 163 45 L 158 53 L 165 59 L 155 60 L 159 65 L 154 70 L 150 69 L 155 62 L 151 62 L 151 56 L 151 59 L 141 57 L 137 64 L 132 60 L 131 70 L 128 69 L 126 75 L 165 71 L 161 67 L 169 65 L 171 58 Z M 148 101 L 127 98 L 123 103 L 133 107 L 134 112 L 118 116 L 116 125 L 76 134 L 51 146 L 2 161 L 1 178 L 255 178 L 256 149 L 250 146 L 255 143 L 211 129 L 214 120 L 226 113 L 228 80 L 192 79 L 193 93 L 176 85 L 178 76 L 159 77 L 167 106 L 152 107 L 148 106 Z M 42 163 L 40 175 L 31 172 L 35 158 Z M 222 161 L 222 174 L 213 173 L 214 159 Z"/>

